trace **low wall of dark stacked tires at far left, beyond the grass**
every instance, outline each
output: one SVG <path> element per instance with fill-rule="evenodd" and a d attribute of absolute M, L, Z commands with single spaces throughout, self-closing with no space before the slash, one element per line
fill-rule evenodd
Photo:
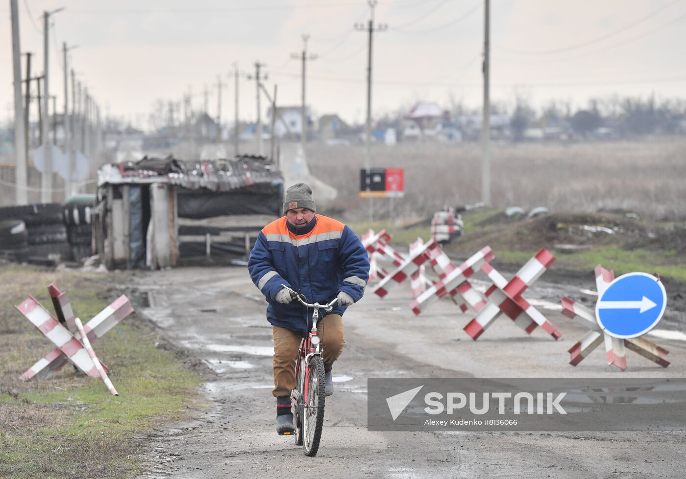
<path fill-rule="evenodd" d="M 43 262 L 54 257 L 52 255 L 59 255 L 61 260 L 71 259 L 67 228 L 62 220 L 62 204 L 7 206 L 0 208 L 0 220 L 23 221 L 26 251 L 21 260 Z"/>

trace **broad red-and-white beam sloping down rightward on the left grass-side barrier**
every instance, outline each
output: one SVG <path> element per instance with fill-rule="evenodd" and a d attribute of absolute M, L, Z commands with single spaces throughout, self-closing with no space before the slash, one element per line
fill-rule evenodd
<path fill-rule="evenodd" d="M 99 373 L 93 361 L 88 356 L 88 352 L 83 347 L 78 339 L 76 339 L 67 328 L 50 315 L 47 309 L 43 308 L 40 303 L 33 296 L 29 296 L 16 308 L 24 315 L 31 323 L 36 326 L 36 329 L 41 332 L 47 339 L 60 349 L 60 352 L 67 356 L 68 360 L 73 363 L 78 369 L 86 373 L 88 376 L 94 378 L 99 377 Z M 40 362 L 40 361 L 39 361 Z M 29 371 L 31 371 L 29 369 Z M 27 373 L 29 372 L 27 371 Z M 26 373 L 24 373 L 25 375 Z M 24 376 L 22 376 L 24 378 Z"/>

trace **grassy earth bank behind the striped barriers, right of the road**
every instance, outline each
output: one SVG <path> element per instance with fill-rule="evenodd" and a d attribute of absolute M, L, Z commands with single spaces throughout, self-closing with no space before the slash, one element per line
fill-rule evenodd
<path fill-rule="evenodd" d="M 445 245 L 456 258 L 468 258 L 489 245 L 501 264 L 519 267 L 542 247 L 556 257 L 555 268 L 592 274 L 596 265 L 614 269 L 617 275 L 630 271 L 658 273 L 665 278 L 686 282 L 684 243 L 675 241 L 681 230 L 670 222 L 628 220 L 621 215 L 559 214 L 538 219 L 510 219 L 495 208 L 477 208 L 462 213 L 464 236 Z M 584 225 L 618 228 L 614 234 L 589 232 Z M 385 229 L 394 245 L 407 245 L 421 236 L 431 237 L 429 228 L 403 229 L 392 221 L 351 223 L 362 235 L 372 228 Z M 573 253 L 558 249 L 560 243 L 586 245 Z"/>

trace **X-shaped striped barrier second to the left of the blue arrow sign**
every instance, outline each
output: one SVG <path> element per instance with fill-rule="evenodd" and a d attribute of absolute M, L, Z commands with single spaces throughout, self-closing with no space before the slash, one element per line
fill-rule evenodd
<path fill-rule="evenodd" d="M 432 262 L 433 266 L 443 265 L 442 267 L 446 267 L 445 258 L 447 258 L 447 255 L 445 255 L 445 258 L 439 259 L 436 258 L 436 251 L 432 251 L 431 256 L 433 256 L 435 260 Z M 493 251 L 491 251 L 490 246 L 484 247 L 477 254 L 474 254 L 471 258 L 463 262 L 459 267 L 449 269 L 449 272 L 445 273 L 439 282 L 419 295 L 410 304 L 410 308 L 414 311 L 415 315 L 419 315 L 427 306 L 438 301 L 438 299 L 445 295 L 450 294 L 454 297 L 459 293 L 460 297 L 469 303 L 469 306 L 472 306 L 474 310 L 481 310 L 486 305 L 486 299 L 484 299 L 466 280 L 471 277 L 475 271 L 478 271 L 482 265 L 487 264 L 488 261 L 492 261 L 493 258 L 495 258 L 495 256 L 493 256 Z M 443 271 L 445 271 L 445 269 Z"/>

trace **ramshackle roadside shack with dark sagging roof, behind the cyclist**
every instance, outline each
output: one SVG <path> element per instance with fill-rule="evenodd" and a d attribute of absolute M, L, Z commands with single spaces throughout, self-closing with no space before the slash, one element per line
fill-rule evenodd
<path fill-rule="evenodd" d="M 108 269 L 226 264 L 281 216 L 283 177 L 263 156 L 143 158 L 98 171 L 95 252 Z"/>

